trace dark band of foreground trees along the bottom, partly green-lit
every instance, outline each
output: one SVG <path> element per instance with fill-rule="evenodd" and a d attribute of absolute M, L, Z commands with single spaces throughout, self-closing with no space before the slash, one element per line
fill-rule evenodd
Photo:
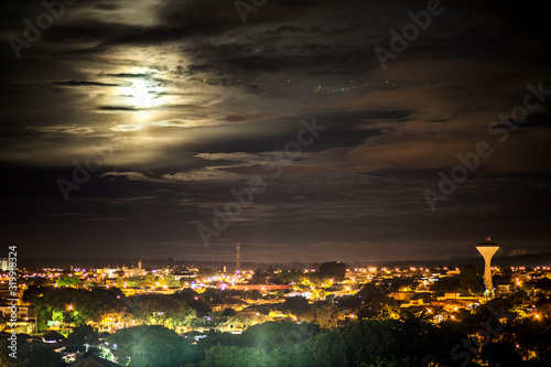
<path fill-rule="evenodd" d="M 549 300 L 548 300 L 549 301 Z M 549 305 L 549 302 L 547 302 Z M 121 330 L 107 338 L 100 357 L 122 366 L 551 366 L 549 306 L 538 317 L 521 315 L 515 296 L 495 299 L 461 320 L 435 324 L 426 313 L 383 313 L 336 328 L 311 323 L 267 322 L 240 335 L 210 333 L 192 345 L 160 325 Z M 69 344 L 97 338 L 83 325 Z M 117 345 L 115 348 L 114 345 Z M 2 345 L 2 348 L 6 346 Z M 24 361 L 23 361 L 24 360 Z M 63 366 L 51 350 L 20 349 L 2 366 Z"/>

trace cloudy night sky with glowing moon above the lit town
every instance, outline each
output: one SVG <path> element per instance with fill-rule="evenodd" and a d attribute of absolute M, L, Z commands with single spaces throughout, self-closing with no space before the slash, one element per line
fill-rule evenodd
<path fill-rule="evenodd" d="M 240 241 L 242 261 L 445 259 L 485 236 L 506 255 L 549 249 L 540 3 L 252 3 L 82 0 L 48 17 L 2 1 L 2 251 L 228 260 Z M 430 24 L 391 44 L 428 7 Z"/>

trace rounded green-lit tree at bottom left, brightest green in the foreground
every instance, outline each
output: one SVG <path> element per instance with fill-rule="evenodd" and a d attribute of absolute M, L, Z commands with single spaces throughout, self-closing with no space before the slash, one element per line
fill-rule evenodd
<path fill-rule="evenodd" d="M 163 326 L 122 328 L 107 342 L 117 363 L 129 367 L 172 367 L 194 358 L 190 342 Z"/>

